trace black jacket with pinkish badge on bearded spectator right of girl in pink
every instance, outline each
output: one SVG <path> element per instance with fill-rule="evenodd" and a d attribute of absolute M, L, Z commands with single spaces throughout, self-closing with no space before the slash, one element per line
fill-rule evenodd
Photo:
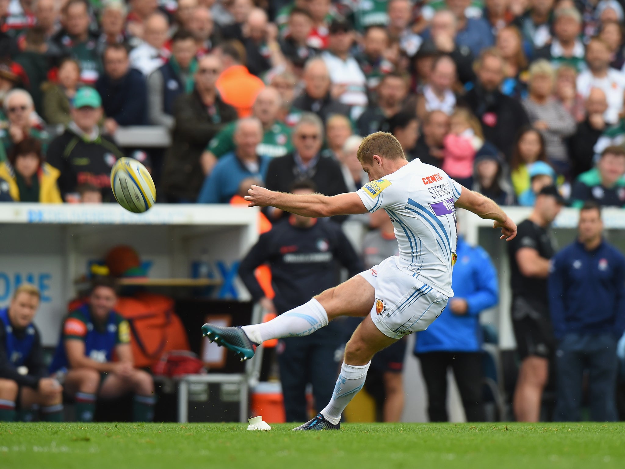
<path fill-rule="evenodd" d="M 510 161 L 517 132 L 529 124 L 521 103 L 499 91 L 488 93 L 477 84 L 459 104 L 471 109 L 482 124 L 484 139 L 494 144 Z"/>

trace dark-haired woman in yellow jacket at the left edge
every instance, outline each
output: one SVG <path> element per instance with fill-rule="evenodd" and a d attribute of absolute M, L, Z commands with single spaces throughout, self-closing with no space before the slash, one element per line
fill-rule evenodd
<path fill-rule="evenodd" d="M 61 173 L 43 161 L 41 142 L 25 137 L 12 146 L 8 161 L 0 163 L 0 178 L 9 183 L 16 202 L 62 203 L 56 185 Z"/>

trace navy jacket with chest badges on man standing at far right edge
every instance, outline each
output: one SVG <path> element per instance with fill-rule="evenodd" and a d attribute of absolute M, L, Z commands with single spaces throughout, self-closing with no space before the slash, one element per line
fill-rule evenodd
<path fill-rule="evenodd" d="M 606 241 L 586 251 L 575 241 L 551 259 L 549 309 L 556 338 L 625 330 L 625 257 Z"/>

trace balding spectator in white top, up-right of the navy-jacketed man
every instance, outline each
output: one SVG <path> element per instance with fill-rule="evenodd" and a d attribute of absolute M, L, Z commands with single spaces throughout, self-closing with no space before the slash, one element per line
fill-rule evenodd
<path fill-rule="evenodd" d="M 165 48 L 168 29 L 169 23 L 163 13 L 154 13 L 145 19 L 143 43 L 134 48 L 129 55 L 132 68 L 148 76 L 168 61 L 170 53 Z"/>

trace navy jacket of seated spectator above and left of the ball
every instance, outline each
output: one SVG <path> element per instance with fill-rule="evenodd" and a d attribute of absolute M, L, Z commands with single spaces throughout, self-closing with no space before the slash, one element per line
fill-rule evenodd
<path fill-rule="evenodd" d="M 101 74 L 96 89 L 102 97 L 106 117 L 121 126 L 140 126 L 148 123 L 148 89 L 143 74 L 129 69 L 119 80 Z"/>

